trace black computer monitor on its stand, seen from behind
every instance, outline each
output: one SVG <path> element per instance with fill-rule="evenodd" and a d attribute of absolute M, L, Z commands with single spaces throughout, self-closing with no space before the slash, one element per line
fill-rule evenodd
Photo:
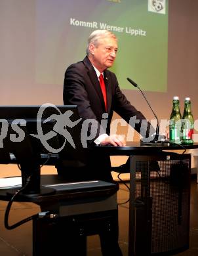
<path fill-rule="evenodd" d="M 81 147 L 76 105 L 0 106 L 0 163 L 20 165 L 24 196 L 54 191 L 40 184 L 40 165 L 56 156 L 75 161 Z M 27 185 L 28 184 L 28 185 Z"/>

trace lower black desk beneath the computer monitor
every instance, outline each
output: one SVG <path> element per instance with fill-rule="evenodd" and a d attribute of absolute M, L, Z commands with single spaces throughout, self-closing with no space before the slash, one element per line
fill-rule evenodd
<path fill-rule="evenodd" d="M 118 184 L 104 181 L 64 183 L 64 177 L 41 175 L 41 184 L 54 188 L 46 196 L 19 196 L 16 202 L 33 202 L 41 213 L 32 219 L 32 255 L 87 255 L 87 236 L 117 234 Z M 12 190 L 0 190 L 9 201 Z M 116 230 L 115 230 L 116 229 Z"/>

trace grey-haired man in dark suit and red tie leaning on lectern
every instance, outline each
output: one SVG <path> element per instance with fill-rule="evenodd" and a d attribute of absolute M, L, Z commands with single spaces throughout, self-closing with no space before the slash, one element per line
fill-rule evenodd
<path fill-rule="evenodd" d="M 144 135 L 149 133 L 149 124 L 145 131 L 141 129 L 142 120 L 146 118 L 130 104 L 121 92 L 115 74 L 108 70 L 113 65 L 117 49 L 117 38 L 113 33 L 96 30 L 89 36 L 87 56 L 66 70 L 64 104 L 77 105 L 82 120 L 89 120 L 85 129 L 85 137 L 89 138 L 85 148 L 87 157 L 82 160 L 79 154 L 79 166 L 70 167 L 68 172 L 67 167 L 57 168 L 58 174 L 66 176 L 68 181 L 112 181 L 109 156 L 96 156 L 89 148 L 93 144 L 125 146 L 125 139 L 121 135 L 109 135 L 114 111 L 129 123 L 130 118 L 136 116 L 140 120 L 134 126 L 136 131 L 142 131 Z M 111 238 L 106 232 L 100 234 L 103 255 L 122 255 L 117 243 L 117 224 L 114 233 Z"/>

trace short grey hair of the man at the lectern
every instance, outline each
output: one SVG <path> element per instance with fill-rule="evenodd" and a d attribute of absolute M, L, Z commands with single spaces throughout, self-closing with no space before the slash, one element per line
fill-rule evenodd
<path fill-rule="evenodd" d="M 114 39 L 117 40 L 117 37 L 115 36 L 114 33 L 110 32 L 109 30 L 95 30 L 89 35 L 88 38 L 88 44 L 87 44 L 87 56 L 89 56 L 90 51 L 89 51 L 89 45 L 92 43 L 96 47 L 99 45 L 99 40 L 104 38 L 104 37 L 113 37 Z"/>

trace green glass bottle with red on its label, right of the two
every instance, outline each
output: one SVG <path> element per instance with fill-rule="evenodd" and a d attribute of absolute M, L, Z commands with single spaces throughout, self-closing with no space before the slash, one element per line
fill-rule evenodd
<path fill-rule="evenodd" d="M 182 116 L 182 144 L 193 144 L 193 115 L 191 113 L 191 100 L 184 100 L 184 114 Z"/>

